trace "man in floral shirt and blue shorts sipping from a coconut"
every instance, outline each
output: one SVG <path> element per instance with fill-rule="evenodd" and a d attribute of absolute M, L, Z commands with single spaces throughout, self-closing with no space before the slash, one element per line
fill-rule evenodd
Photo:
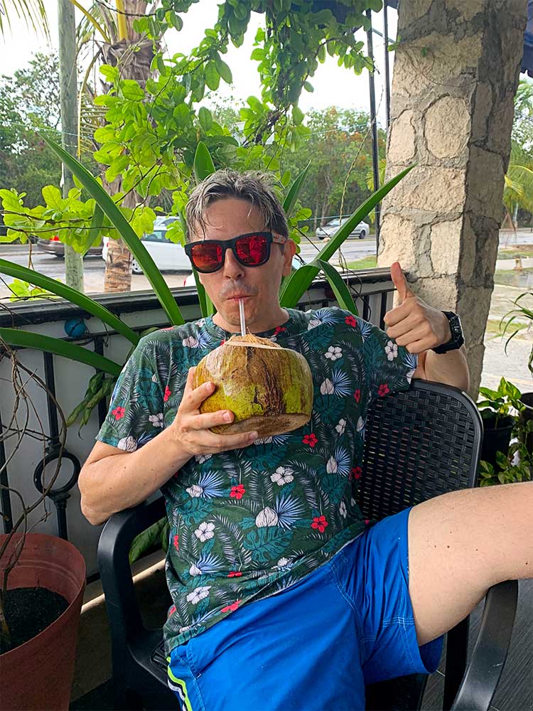
<path fill-rule="evenodd" d="M 441 635 L 488 587 L 531 574 L 533 484 L 362 520 L 368 405 L 413 375 L 466 389 L 456 317 L 414 296 L 399 264 L 387 333 L 340 309 L 281 309 L 296 245 L 266 176 L 214 173 L 187 223 L 217 313 L 141 340 L 80 474 L 82 510 L 102 523 L 162 488 L 168 675 L 184 707 L 363 709 L 365 683 L 434 670 Z M 240 330 L 239 299 L 250 332 L 310 363 L 306 427 L 217 435 L 232 413 L 200 414 L 213 386 L 193 388 L 194 366 Z"/>

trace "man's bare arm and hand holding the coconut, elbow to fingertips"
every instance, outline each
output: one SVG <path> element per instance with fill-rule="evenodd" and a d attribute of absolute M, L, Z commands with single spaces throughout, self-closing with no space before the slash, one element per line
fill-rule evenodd
<path fill-rule="evenodd" d="M 242 449 L 257 439 L 257 432 L 213 434 L 210 427 L 232 422 L 230 410 L 200 414 L 200 405 L 214 385 L 193 389 L 195 368 L 190 368 L 183 399 L 170 427 L 144 447 L 124 452 L 97 442 L 80 471 L 82 513 L 93 525 L 112 513 L 131 508 L 151 496 L 195 454 Z"/>

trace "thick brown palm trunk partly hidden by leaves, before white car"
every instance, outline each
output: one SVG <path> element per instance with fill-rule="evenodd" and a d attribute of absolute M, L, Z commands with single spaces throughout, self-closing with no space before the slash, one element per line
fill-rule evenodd
<path fill-rule="evenodd" d="M 112 66 L 119 65 L 123 79 L 134 79 L 143 88 L 146 85 L 146 80 L 151 76 L 150 64 L 154 58 L 154 51 L 152 42 L 146 38 L 143 39 L 139 33 L 134 31 L 133 21 L 135 16 L 144 14 L 146 4 L 146 0 L 124 0 L 126 36 L 120 36 L 112 44 L 104 44 L 102 47 L 104 62 Z M 117 9 L 119 9 L 118 3 Z M 122 32 L 124 32 L 124 27 Z M 135 50 L 132 50 L 133 46 Z M 116 195 L 122 190 L 120 177 L 112 183 L 108 183 L 105 176 L 102 175 L 102 180 L 109 195 Z M 126 195 L 122 205 L 133 209 L 142 203 L 142 198 L 132 191 Z M 129 291 L 131 291 L 131 252 L 123 240 L 109 239 L 105 262 L 104 292 Z"/>

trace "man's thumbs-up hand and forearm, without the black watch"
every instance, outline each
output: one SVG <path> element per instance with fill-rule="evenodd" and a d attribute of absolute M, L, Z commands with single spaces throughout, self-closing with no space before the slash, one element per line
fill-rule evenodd
<path fill-rule="evenodd" d="M 451 340 L 448 319 L 442 311 L 425 304 L 411 291 L 398 262 L 391 267 L 391 276 L 397 288 L 399 305 L 384 316 L 387 336 L 409 353 L 419 355 L 419 365 L 414 378 L 434 380 L 468 390 L 470 375 L 465 348 L 448 353 L 435 353 L 431 348 Z"/>

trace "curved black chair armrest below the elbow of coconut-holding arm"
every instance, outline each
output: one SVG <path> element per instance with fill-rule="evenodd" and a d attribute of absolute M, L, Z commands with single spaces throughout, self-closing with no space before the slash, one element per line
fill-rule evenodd
<path fill-rule="evenodd" d="M 165 515 L 163 497 L 148 505 L 114 513 L 98 542 L 98 568 L 102 579 L 109 625 L 114 643 L 126 645 L 144 631 L 134 591 L 129 549 L 135 536 Z"/>

